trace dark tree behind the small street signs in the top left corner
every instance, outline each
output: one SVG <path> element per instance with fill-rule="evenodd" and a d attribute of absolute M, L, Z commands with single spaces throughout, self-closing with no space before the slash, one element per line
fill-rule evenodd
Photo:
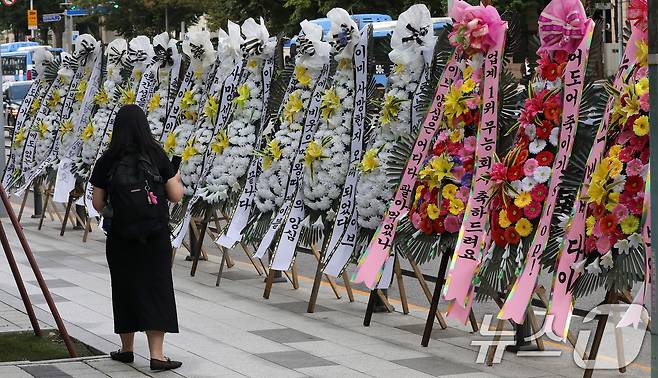
<path fill-rule="evenodd" d="M 34 9 L 39 15 L 38 34 L 42 41 L 47 40 L 48 29 L 55 33 L 55 46 L 61 47 L 61 36 L 64 30 L 63 21 L 44 23 L 41 22 L 41 15 L 44 13 L 59 13 L 62 9 L 59 6 L 59 0 L 34 0 Z M 27 10 L 30 7 L 29 1 L 17 1 L 14 5 L 6 7 L 0 6 L 0 30 L 10 30 L 17 41 L 25 39 L 30 32 L 27 29 Z M 4 42 L 4 41 L 3 41 Z"/>

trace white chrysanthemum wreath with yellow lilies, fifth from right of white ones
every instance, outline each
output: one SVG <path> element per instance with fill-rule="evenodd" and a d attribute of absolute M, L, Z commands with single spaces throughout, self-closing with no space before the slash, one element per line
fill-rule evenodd
<path fill-rule="evenodd" d="M 203 171 L 204 157 L 208 146 L 211 146 L 214 153 L 221 153 L 221 150 L 224 149 L 224 143 L 226 143 L 226 131 L 224 130 L 219 131 L 216 140 L 213 141 L 216 128 L 221 127 L 221 125 L 217 125 L 217 122 L 222 92 L 224 91 L 223 83 L 235 69 L 236 64 L 242 64 L 240 26 L 231 21 L 229 21 L 228 26 L 229 34 L 226 34 L 223 30 L 219 31 L 217 44 L 217 55 L 221 61 L 217 65 L 214 82 L 219 85 L 211 88 L 212 93 L 207 94 L 205 104 L 200 106 L 203 111 L 199 116 L 198 126 L 188 139 L 181 156 L 181 180 L 187 196 L 193 195 L 197 185 L 202 181 L 200 176 Z M 226 164 L 225 160 L 222 161 L 221 165 L 224 164 Z"/>

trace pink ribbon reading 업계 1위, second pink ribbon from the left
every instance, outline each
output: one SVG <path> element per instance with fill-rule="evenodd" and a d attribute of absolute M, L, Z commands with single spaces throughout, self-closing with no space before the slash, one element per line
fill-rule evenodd
<path fill-rule="evenodd" d="M 503 34 L 504 35 L 504 34 Z M 485 240 L 487 223 L 486 204 L 491 185 L 484 176 L 491 170 L 496 154 L 498 138 L 498 91 L 502 69 L 505 39 L 497 41 L 495 47 L 485 56 L 485 78 L 482 90 L 482 119 L 477 135 L 475 149 L 477 168 L 476 179 L 471 187 L 471 194 L 466 204 L 464 221 L 459 229 L 455 253 L 450 261 L 444 296 L 455 300 L 465 308 L 469 296 L 471 281 L 479 265 L 480 252 Z M 467 312 L 468 315 L 468 312 Z"/>

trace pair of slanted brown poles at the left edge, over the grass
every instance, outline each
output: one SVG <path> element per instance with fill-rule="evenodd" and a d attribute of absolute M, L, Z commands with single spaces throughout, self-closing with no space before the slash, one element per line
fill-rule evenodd
<path fill-rule="evenodd" d="M 7 192 L 5 192 L 5 188 L 2 185 L 0 185 L 0 198 L 2 199 L 2 204 L 5 208 L 5 211 L 7 211 L 7 214 L 9 215 L 9 219 L 14 228 L 14 231 L 16 232 L 16 236 L 18 236 L 18 240 L 21 243 L 21 247 L 25 252 L 27 261 L 29 262 L 30 267 L 32 268 L 34 277 L 36 278 L 37 283 L 39 284 L 41 293 L 46 299 L 48 308 L 50 309 L 50 312 L 53 315 L 53 318 L 55 319 L 55 323 L 57 324 L 57 329 L 59 330 L 59 333 L 62 339 L 64 340 L 64 344 L 66 345 L 66 349 L 69 352 L 69 356 L 71 358 L 77 357 L 75 353 L 75 348 L 73 346 L 73 343 L 71 342 L 71 338 L 69 337 L 64 322 L 62 321 L 62 317 L 60 316 L 59 311 L 57 310 L 55 301 L 53 300 L 53 297 L 50 294 L 50 290 L 48 290 L 48 286 L 46 285 L 46 282 L 43 279 L 41 270 L 39 269 L 37 261 L 34 258 L 34 255 L 32 254 L 32 249 L 30 248 L 30 245 L 27 242 L 25 234 L 23 233 L 23 228 L 21 227 L 19 220 L 16 217 L 16 214 L 14 213 L 14 209 L 11 206 L 11 202 L 9 201 L 9 197 L 7 196 Z M 30 318 L 30 323 L 32 324 L 32 329 L 34 330 L 34 334 L 40 337 L 43 335 L 43 333 L 41 331 L 41 328 L 39 327 L 39 321 L 37 320 L 37 317 L 34 313 L 34 309 L 32 308 L 30 297 L 28 296 L 27 290 L 25 288 L 25 282 L 21 277 L 20 270 L 18 269 L 18 265 L 16 264 L 16 259 L 14 258 L 14 255 L 11 251 L 11 245 L 9 243 L 9 239 L 7 238 L 7 233 L 5 232 L 2 223 L 0 223 L 0 244 L 2 245 L 2 249 L 4 249 L 5 251 L 5 255 L 7 256 L 7 261 L 9 262 L 11 273 L 14 276 L 14 281 L 16 281 L 16 286 L 18 287 L 18 291 L 20 293 L 21 299 L 23 300 L 25 311 L 27 312 L 27 315 Z"/>

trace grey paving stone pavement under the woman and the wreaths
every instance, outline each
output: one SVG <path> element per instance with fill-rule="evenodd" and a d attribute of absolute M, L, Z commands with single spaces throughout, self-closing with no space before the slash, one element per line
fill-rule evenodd
<path fill-rule="evenodd" d="M 7 225 L 7 222 L 3 222 Z M 24 220 L 25 233 L 37 257 L 67 329 L 77 339 L 109 353 L 119 346 L 113 333 L 110 278 L 105 261 L 103 235 L 95 230 L 87 243 L 80 232 L 59 236 L 59 224 L 46 221 L 42 231 L 36 222 Z M 34 309 L 44 328 L 54 328 L 27 261 L 10 232 L 14 254 Z M 207 243 L 211 244 L 211 243 Z M 44 363 L 0 364 L 4 377 L 578 377 L 583 371 L 573 362 L 570 349 L 547 342 L 560 357 L 518 357 L 505 353 L 493 367 L 476 363 L 484 336 L 470 328 L 449 323 L 435 325 L 428 348 L 420 346 L 427 310 L 412 306 L 402 315 L 375 314 L 364 327 L 367 296 L 356 292 L 350 303 L 345 291 L 336 299 L 328 285 L 320 289 L 318 305 L 306 312 L 311 280 L 300 277 L 300 288 L 288 283 L 274 285 L 269 300 L 263 299 L 263 277 L 245 262 L 225 271 L 215 287 L 219 253 L 208 245 L 210 261 L 199 264 L 190 277 L 185 252 L 174 258 L 173 274 L 180 323 L 179 334 L 166 337 L 165 351 L 183 361 L 174 372 L 148 369 L 146 338 L 135 340 L 136 362 L 121 364 L 106 356 Z M 234 255 L 244 255 L 234 250 Z M 307 258 L 302 256 L 300 258 Z M 2 261 L 2 260 L 0 260 Z M 313 272 L 300 272 L 312 276 Z M 340 284 L 341 281 L 338 280 Z M 396 307 L 400 307 L 396 304 Z M 7 264 L 0 262 L 0 332 L 29 329 L 30 323 Z M 626 376 L 648 376 L 647 364 L 632 364 Z M 618 376 L 616 371 L 597 372 L 597 377 Z"/>

